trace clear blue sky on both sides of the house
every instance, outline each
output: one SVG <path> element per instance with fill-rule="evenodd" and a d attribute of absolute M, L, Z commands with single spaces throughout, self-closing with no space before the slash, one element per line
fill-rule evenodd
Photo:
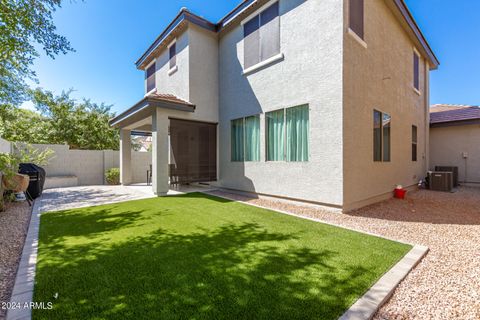
<path fill-rule="evenodd" d="M 143 96 L 143 72 L 134 62 L 180 8 L 217 22 L 241 0 L 66 1 L 54 14 L 58 32 L 76 52 L 41 56 L 38 86 L 75 98 L 113 104 L 117 113 Z M 475 0 L 406 0 L 440 60 L 431 73 L 431 103 L 480 104 L 480 39 Z M 25 105 L 26 107 L 29 104 Z"/>

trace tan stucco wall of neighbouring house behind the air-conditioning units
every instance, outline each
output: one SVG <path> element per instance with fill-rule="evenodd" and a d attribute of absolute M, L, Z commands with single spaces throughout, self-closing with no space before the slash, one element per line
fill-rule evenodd
<path fill-rule="evenodd" d="M 430 169 L 435 166 L 457 166 L 459 181 L 480 183 L 480 125 L 431 128 Z"/>

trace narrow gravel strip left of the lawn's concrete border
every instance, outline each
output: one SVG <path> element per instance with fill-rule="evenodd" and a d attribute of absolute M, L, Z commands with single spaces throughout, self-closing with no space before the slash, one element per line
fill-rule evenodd
<path fill-rule="evenodd" d="M 26 202 L 6 206 L 0 212 L 0 303 L 10 300 L 32 211 Z M 0 308 L 0 319 L 5 316 L 6 310 Z"/>

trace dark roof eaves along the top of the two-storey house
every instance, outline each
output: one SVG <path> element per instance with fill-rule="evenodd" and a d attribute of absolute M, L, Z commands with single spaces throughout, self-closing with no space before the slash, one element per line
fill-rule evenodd
<path fill-rule="evenodd" d="M 394 4 L 397 8 L 398 13 L 402 18 L 402 21 L 406 23 L 409 30 L 412 32 L 412 35 L 420 43 L 423 51 L 428 57 L 431 68 L 436 69 L 440 62 L 433 53 L 430 45 L 425 39 L 424 35 L 420 31 L 415 19 L 407 8 L 404 0 L 386 0 L 390 4 Z M 173 19 L 172 22 L 165 28 L 165 30 L 160 33 L 160 35 L 155 39 L 155 41 L 148 47 L 148 49 L 142 54 L 142 56 L 135 62 L 137 69 L 144 69 L 153 59 L 159 50 L 163 47 L 164 42 L 169 42 L 174 38 L 174 35 L 181 32 L 187 23 L 193 23 L 202 28 L 213 32 L 221 32 L 227 26 L 231 25 L 234 21 L 238 20 L 240 17 L 245 16 L 246 13 L 250 13 L 254 9 L 260 7 L 261 5 L 268 2 L 267 0 L 244 0 L 238 6 L 236 6 L 232 11 L 227 13 L 218 23 L 213 23 L 205 18 L 202 18 L 192 12 L 187 8 L 182 8 L 177 16 Z"/>

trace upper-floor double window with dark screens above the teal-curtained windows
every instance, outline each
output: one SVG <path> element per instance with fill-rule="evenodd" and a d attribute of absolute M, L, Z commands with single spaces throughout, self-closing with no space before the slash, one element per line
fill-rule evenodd
<path fill-rule="evenodd" d="M 262 60 L 262 13 L 265 12 L 266 10 L 270 9 L 273 5 L 278 6 L 278 12 L 277 12 L 277 19 L 278 19 L 278 53 L 274 54 L 271 57 L 265 58 Z M 250 23 L 253 19 L 258 19 L 258 52 L 257 52 L 257 57 L 258 57 L 258 62 L 255 64 L 252 64 L 251 66 L 246 66 L 245 63 L 245 25 Z M 270 0 L 267 3 L 265 3 L 261 8 L 250 14 L 247 18 L 241 21 L 241 26 L 243 29 L 243 74 L 250 73 L 254 70 L 257 70 L 265 65 L 271 64 L 276 61 L 280 61 L 284 58 L 282 54 L 282 48 L 281 48 L 281 16 L 280 16 L 280 0 Z"/>

